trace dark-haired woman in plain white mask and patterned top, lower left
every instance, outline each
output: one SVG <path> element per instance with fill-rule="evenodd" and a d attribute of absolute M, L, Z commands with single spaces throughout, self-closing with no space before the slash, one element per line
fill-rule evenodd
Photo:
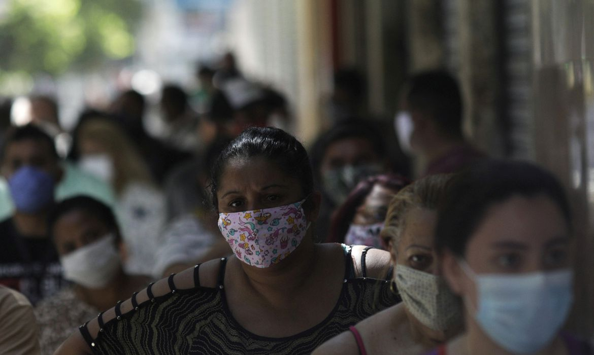
<path fill-rule="evenodd" d="M 59 202 L 49 213 L 48 230 L 72 286 L 35 308 L 42 354 L 53 354 L 79 325 L 150 282 L 124 272 L 124 242 L 115 215 L 102 202 L 88 196 Z"/>

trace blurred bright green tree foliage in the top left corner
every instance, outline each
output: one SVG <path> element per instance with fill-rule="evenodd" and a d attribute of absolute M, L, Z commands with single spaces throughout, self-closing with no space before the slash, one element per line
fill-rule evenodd
<path fill-rule="evenodd" d="M 5 0 L 0 12 L 0 77 L 59 75 L 134 53 L 139 0 Z"/>

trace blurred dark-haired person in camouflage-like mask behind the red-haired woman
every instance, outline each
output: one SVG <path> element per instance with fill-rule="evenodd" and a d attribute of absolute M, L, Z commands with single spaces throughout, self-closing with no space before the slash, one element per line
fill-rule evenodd
<path fill-rule="evenodd" d="M 322 191 L 317 234 L 328 235 L 334 210 L 368 176 L 390 170 L 386 144 L 370 122 L 341 122 L 320 135 L 311 147 L 311 164 Z"/>

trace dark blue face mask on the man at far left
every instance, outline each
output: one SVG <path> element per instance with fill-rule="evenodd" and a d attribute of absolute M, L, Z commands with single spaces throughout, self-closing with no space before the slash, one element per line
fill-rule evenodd
<path fill-rule="evenodd" d="M 37 213 L 53 202 L 54 180 L 49 173 L 23 166 L 8 180 L 8 188 L 17 211 Z"/>

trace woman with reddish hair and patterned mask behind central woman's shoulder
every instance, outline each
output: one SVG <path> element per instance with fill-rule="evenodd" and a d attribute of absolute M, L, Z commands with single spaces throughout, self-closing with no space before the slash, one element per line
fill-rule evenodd
<path fill-rule="evenodd" d="M 394 174 L 370 176 L 359 182 L 334 214 L 328 242 L 386 249 L 380 232 L 388 205 L 408 183 L 406 177 Z"/>

